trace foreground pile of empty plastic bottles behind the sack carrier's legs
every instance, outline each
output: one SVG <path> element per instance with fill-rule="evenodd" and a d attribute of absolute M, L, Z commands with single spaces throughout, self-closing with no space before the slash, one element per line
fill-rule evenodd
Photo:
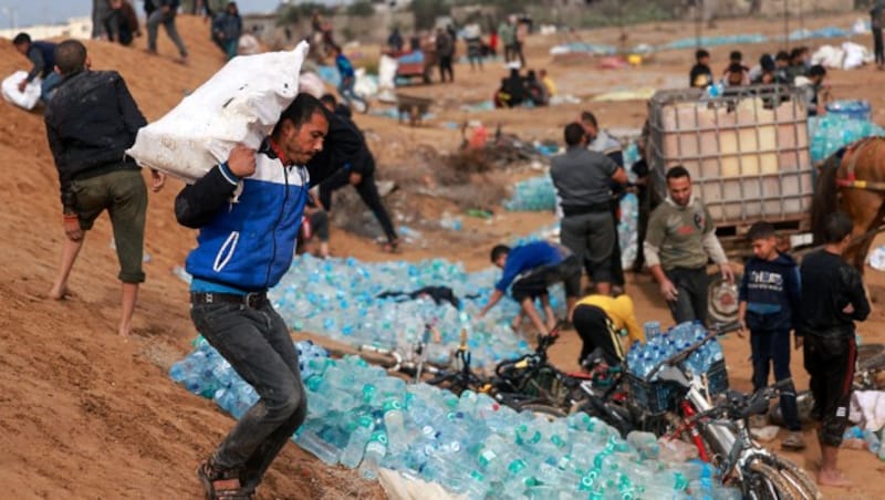
<path fill-rule="evenodd" d="M 195 344 L 170 376 L 239 418 L 254 390 L 205 341 Z M 485 394 L 407 385 L 355 356 L 331 360 L 309 342 L 296 348 L 308 419 L 294 441 L 366 479 L 389 468 L 470 499 L 740 498 L 710 466 L 665 456 L 648 433 L 625 440 L 586 414 L 535 418 Z"/>

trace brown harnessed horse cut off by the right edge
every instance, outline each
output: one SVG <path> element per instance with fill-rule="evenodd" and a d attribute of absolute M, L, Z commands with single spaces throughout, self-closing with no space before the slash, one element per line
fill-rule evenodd
<path fill-rule="evenodd" d="M 811 202 L 814 244 L 822 244 L 823 222 L 842 210 L 854 222 L 845 259 L 862 274 L 864 259 L 885 217 L 885 137 L 866 137 L 824 160 Z"/>

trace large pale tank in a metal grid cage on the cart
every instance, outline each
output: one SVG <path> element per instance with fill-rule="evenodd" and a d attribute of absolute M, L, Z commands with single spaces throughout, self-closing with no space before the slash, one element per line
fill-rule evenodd
<path fill-rule="evenodd" d="M 814 188 L 814 166 L 809 150 L 808 112 L 804 101 L 804 90 L 784 85 L 754 85 L 726 88 L 721 96 L 709 97 L 698 88 L 658 91 L 648 102 L 649 138 L 646 154 L 649 162 L 652 186 L 659 199 L 667 195 L 666 169 L 669 166 L 683 165 L 691 174 L 694 194 L 700 196 L 710 215 L 717 223 L 718 232 L 725 229 L 725 236 L 739 236 L 752 222 L 768 220 L 779 229 L 792 231 L 808 228 L 809 210 Z M 750 100 L 750 101 L 747 101 Z M 780 102 L 780 106 L 792 106 L 784 114 L 792 119 L 779 118 L 779 113 L 767 107 L 767 103 Z M 741 104 L 745 104 L 741 106 Z M 741 118 L 750 105 L 752 119 L 742 123 Z M 678 106 L 694 106 L 691 124 L 680 124 Z M 761 104 L 761 106 L 760 106 Z M 665 126 L 665 113 L 673 107 L 675 128 Z M 726 114 L 735 113 L 733 124 L 723 123 L 720 113 L 708 113 L 706 110 L 726 110 Z M 768 111 L 772 117 L 770 122 L 760 123 L 759 115 L 762 110 Z M 712 116 L 715 119 L 709 126 L 702 126 L 701 115 Z M 687 119 L 686 119 L 687 122 Z M 690 126 L 689 126 L 690 125 Z M 788 134 L 792 135 L 792 145 L 781 144 L 782 129 L 789 127 Z M 742 149 L 740 146 L 741 131 L 754 129 L 754 143 L 758 147 Z M 768 129 L 766 129 L 768 128 Z M 736 153 L 721 153 L 722 133 L 733 133 L 737 139 Z M 774 147 L 762 148 L 763 133 L 774 133 Z M 675 136 L 667 147 L 669 136 Z M 697 153 L 685 152 L 685 137 L 688 144 L 694 136 Z M 715 153 L 704 153 L 712 149 L 705 146 L 702 140 L 715 137 L 717 144 Z M 770 142 L 770 137 L 768 138 Z M 785 140 L 783 140 L 785 143 Z M 777 171 L 764 173 L 762 168 L 763 155 L 774 155 Z M 784 158 L 792 162 L 791 169 L 783 168 Z M 737 157 L 739 173 L 737 176 L 723 174 L 723 159 Z M 746 175 L 745 162 L 756 158 L 759 171 Z M 769 156 L 769 160 L 770 160 Z M 715 164 L 716 171 L 710 171 L 710 164 Z M 788 188 L 784 188 L 789 186 Z M 716 195 L 716 196 L 711 196 Z"/>

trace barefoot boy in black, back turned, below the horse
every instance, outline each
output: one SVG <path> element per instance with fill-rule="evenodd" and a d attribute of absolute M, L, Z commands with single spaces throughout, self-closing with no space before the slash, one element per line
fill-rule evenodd
<path fill-rule="evenodd" d="M 836 467 L 839 446 L 848 423 L 854 364 L 854 322 L 870 315 L 861 273 L 842 257 L 851 243 L 853 222 L 843 212 L 824 220 L 824 248 L 802 259 L 796 348 L 804 347 L 805 371 L 814 395 L 812 416 L 820 419 L 821 468 L 818 483 L 851 486 Z M 801 335 L 801 336 L 800 336 Z"/>

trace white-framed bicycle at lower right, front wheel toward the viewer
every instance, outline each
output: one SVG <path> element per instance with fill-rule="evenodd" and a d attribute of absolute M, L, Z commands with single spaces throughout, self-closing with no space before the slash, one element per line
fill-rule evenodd
<path fill-rule="evenodd" d="M 792 381 L 784 379 L 747 396 L 730 392 L 723 402 L 715 404 L 704 375 L 687 369 L 684 362 L 717 335 L 736 330 L 728 326 L 714 330 L 688 348 L 656 365 L 646 376 L 678 388 L 678 409 L 681 421 L 673 433 L 688 433 L 705 461 L 714 463 L 719 476 L 737 481 L 745 498 L 750 499 L 818 499 L 814 482 L 791 461 L 760 446 L 750 435 L 748 419 L 768 408 L 769 399 L 793 390 Z"/>

